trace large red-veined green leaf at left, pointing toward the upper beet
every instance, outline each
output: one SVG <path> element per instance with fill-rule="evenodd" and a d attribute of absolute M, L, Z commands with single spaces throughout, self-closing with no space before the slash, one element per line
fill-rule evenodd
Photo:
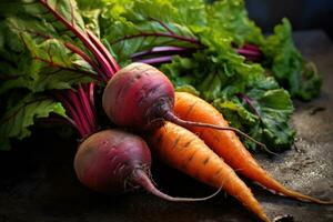
<path fill-rule="evenodd" d="M 49 23 L 9 17 L 2 24 L 7 34 L 0 51 L 6 52 L 7 62 L 0 68 L 6 77 L 0 83 L 0 94 L 17 88 L 32 92 L 69 89 L 93 80 L 95 73 L 90 64 L 67 49 Z"/>

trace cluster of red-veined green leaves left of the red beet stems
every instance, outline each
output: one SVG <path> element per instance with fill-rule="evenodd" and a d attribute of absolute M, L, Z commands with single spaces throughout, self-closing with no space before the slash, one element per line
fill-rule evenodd
<path fill-rule="evenodd" d="M 77 29 L 85 29 L 75 1 L 48 3 Z M 68 119 L 62 104 L 54 100 L 54 90 L 91 82 L 97 73 L 67 47 L 77 46 L 90 56 L 83 43 L 39 1 L 12 1 L 0 19 L 0 142 L 1 149 L 8 150 L 10 139 L 30 135 L 37 119 L 50 113 Z"/>

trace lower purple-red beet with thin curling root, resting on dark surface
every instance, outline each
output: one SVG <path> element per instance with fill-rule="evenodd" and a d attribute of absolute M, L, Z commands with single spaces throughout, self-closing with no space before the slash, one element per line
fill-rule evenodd
<path fill-rule="evenodd" d="M 87 138 L 74 158 L 78 179 L 101 193 L 121 194 L 137 188 L 168 201 L 203 201 L 214 196 L 173 198 L 159 191 L 150 179 L 151 153 L 140 137 L 121 131 L 104 130 Z"/>

